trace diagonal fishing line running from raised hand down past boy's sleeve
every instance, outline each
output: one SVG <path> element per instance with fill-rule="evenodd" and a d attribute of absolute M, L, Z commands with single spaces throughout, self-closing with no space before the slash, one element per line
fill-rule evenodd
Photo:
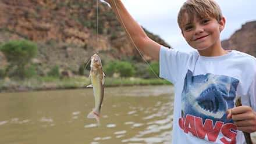
<path fill-rule="evenodd" d="M 145 59 L 145 57 L 142 55 L 142 53 L 140 52 L 140 49 L 138 49 L 138 47 L 136 46 L 135 42 L 133 41 L 133 38 L 131 38 L 131 35 L 129 33 L 129 31 L 127 30 L 126 26 L 125 26 L 125 23 L 123 22 L 123 19 L 120 15 L 120 12 L 119 12 L 119 9 L 118 9 L 118 6 L 116 6 L 116 1 L 114 0 L 114 4 L 115 4 L 115 7 L 116 7 L 116 10 L 118 12 L 118 15 L 120 17 L 120 21 L 121 23 L 123 24 L 123 27 L 125 27 L 125 31 L 126 33 L 129 35 L 130 39 L 131 39 L 131 42 L 133 43 L 133 45 L 135 46 L 135 48 L 137 49 L 138 53 L 140 54 L 140 56 L 143 58 L 143 60 L 145 61 L 145 63 L 148 64 L 148 67 L 150 67 L 150 70 L 154 73 L 154 75 L 158 78 L 158 79 L 161 79 L 158 77 L 158 75 L 155 73 L 155 71 L 152 69 L 152 67 L 150 66 L 150 64 L 147 62 L 147 60 Z"/>

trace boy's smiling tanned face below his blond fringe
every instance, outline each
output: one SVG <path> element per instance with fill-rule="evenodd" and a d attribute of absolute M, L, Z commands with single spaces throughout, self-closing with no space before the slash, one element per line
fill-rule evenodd
<path fill-rule="evenodd" d="M 194 17 L 191 22 L 188 20 L 189 16 L 184 13 L 182 34 L 190 46 L 198 51 L 221 48 L 219 36 L 225 26 L 224 17 L 219 22 L 212 17 Z"/>

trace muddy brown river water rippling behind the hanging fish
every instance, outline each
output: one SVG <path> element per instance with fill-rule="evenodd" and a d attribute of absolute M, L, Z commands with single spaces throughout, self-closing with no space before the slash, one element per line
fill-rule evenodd
<path fill-rule="evenodd" d="M 105 88 L 101 125 L 93 89 L 0 93 L 0 143 L 171 143 L 173 87 Z"/>

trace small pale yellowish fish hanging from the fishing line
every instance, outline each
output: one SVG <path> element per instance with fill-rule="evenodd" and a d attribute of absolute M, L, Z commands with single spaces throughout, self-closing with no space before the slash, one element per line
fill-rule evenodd
<path fill-rule="evenodd" d="M 87 88 L 93 87 L 95 107 L 93 111 L 88 114 L 87 118 L 95 118 L 99 125 L 99 116 L 104 98 L 105 74 L 102 71 L 101 59 L 96 53 L 91 56 L 91 70 L 89 78 L 91 80 L 91 84 L 88 85 Z"/>

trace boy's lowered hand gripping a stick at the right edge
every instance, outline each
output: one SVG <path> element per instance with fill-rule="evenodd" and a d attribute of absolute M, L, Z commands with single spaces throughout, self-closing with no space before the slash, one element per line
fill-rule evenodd
<path fill-rule="evenodd" d="M 248 133 L 256 131 L 256 113 L 250 106 L 238 106 L 227 110 L 227 120 L 230 118 L 238 130 Z"/>

